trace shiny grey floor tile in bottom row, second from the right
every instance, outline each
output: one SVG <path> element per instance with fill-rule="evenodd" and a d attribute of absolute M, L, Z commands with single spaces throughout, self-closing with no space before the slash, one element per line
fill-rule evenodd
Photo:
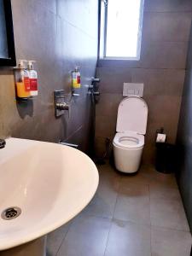
<path fill-rule="evenodd" d="M 114 220 L 105 256 L 150 256 L 150 228 Z"/>

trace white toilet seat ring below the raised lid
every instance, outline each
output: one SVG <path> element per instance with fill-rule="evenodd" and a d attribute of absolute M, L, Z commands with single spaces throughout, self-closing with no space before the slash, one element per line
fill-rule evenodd
<path fill-rule="evenodd" d="M 144 136 L 134 131 L 116 133 L 113 144 L 119 148 L 143 148 Z"/>

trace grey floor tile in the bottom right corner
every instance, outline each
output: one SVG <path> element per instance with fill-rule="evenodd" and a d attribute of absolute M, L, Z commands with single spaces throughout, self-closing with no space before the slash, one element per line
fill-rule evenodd
<path fill-rule="evenodd" d="M 189 256 L 189 232 L 153 228 L 151 231 L 152 256 Z"/>

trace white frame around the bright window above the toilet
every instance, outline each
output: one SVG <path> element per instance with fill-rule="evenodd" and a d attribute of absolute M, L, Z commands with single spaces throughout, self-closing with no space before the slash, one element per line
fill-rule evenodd
<path fill-rule="evenodd" d="M 139 15 L 139 26 L 138 26 L 138 37 L 137 37 L 137 56 L 136 57 L 119 57 L 119 56 L 110 56 L 106 55 L 107 53 L 107 33 L 108 33 L 108 1 L 110 0 L 100 0 L 100 28 L 99 28 L 99 60 L 127 60 L 127 61 L 140 61 L 141 57 L 141 48 L 142 48 L 142 33 L 143 33 L 143 14 L 144 14 L 144 0 L 141 1 L 140 5 L 140 15 Z M 102 24 L 102 2 L 105 4 L 104 10 L 104 35 L 101 35 L 101 24 Z M 103 52 L 101 52 L 101 40 L 103 41 Z"/>

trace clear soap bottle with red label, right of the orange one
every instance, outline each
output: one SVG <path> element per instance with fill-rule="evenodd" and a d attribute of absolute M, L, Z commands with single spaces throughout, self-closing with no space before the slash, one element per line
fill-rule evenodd
<path fill-rule="evenodd" d="M 30 80 L 30 95 L 38 96 L 38 73 L 33 68 L 33 63 L 35 61 L 28 61 L 27 70 L 29 72 Z"/>

